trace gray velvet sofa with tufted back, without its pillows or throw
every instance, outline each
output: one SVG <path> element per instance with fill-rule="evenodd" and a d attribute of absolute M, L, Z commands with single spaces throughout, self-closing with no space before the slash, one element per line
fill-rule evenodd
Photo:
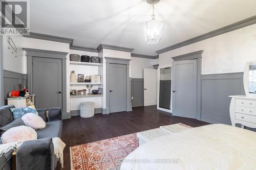
<path fill-rule="evenodd" d="M 10 108 L 13 105 L 0 107 L 0 128 L 10 125 L 13 121 L 13 116 Z M 61 137 L 62 120 L 60 108 L 48 109 L 48 117 L 46 116 L 47 109 L 37 110 L 38 114 L 46 122 L 44 129 L 37 130 L 37 140 L 29 140 L 17 149 L 16 152 L 16 169 L 17 170 L 32 170 L 32 169 L 55 169 L 57 158 L 54 155 L 54 147 L 52 143 L 53 137 Z M 12 169 L 12 153 L 13 150 L 3 154 L 0 157 L 0 169 Z"/>

